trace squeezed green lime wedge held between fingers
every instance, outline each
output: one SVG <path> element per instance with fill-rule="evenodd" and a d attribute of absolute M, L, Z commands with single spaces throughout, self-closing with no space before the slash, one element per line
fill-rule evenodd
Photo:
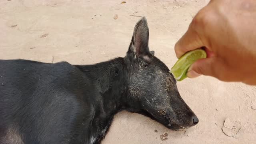
<path fill-rule="evenodd" d="M 188 68 L 201 58 L 206 58 L 206 52 L 202 49 L 192 50 L 187 52 L 178 61 L 174 64 L 171 69 L 171 73 L 174 75 L 174 78 L 178 81 L 184 80 L 187 76 Z"/>

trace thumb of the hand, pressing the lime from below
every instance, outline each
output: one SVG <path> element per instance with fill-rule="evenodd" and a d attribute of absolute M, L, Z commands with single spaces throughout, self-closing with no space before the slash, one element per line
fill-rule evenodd
<path fill-rule="evenodd" d="M 197 60 L 190 66 L 187 72 L 189 78 L 196 78 L 198 76 L 213 76 L 221 79 L 222 70 L 225 69 L 224 62 L 220 58 L 211 57 Z"/>

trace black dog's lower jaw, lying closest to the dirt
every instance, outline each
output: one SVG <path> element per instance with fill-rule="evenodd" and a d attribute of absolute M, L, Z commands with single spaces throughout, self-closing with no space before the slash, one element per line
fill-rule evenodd
<path fill-rule="evenodd" d="M 152 120 L 155 120 L 157 122 L 158 119 L 155 118 L 154 116 L 152 116 L 152 114 L 150 114 L 148 111 L 146 110 L 140 110 L 139 112 L 137 112 L 138 114 L 142 114 L 144 116 L 147 116 L 149 118 L 151 118 Z M 168 121 L 168 120 L 167 120 Z M 160 122 L 161 123 L 161 122 Z M 162 124 L 162 123 L 161 123 Z M 183 126 L 179 126 L 178 124 L 175 124 L 175 123 L 172 123 L 172 122 L 165 122 L 165 124 L 163 124 L 164 126 L 166 126 L 167 128 L 171 129 L 171 130 L 175 130 L 175 131 L 180 131 L 180 130 L 183 130 L 185 129 L 186 127 L 183 127 Z"/>

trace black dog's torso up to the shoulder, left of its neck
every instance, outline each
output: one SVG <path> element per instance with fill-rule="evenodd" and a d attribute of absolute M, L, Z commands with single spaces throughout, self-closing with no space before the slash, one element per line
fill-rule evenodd
<path fill-rule="evenodd" d="M 85 135 L 76 125 L 93 115 L 90 83 L 67 62 L 0 60 L 0 143 L 57 144 Z"/>

